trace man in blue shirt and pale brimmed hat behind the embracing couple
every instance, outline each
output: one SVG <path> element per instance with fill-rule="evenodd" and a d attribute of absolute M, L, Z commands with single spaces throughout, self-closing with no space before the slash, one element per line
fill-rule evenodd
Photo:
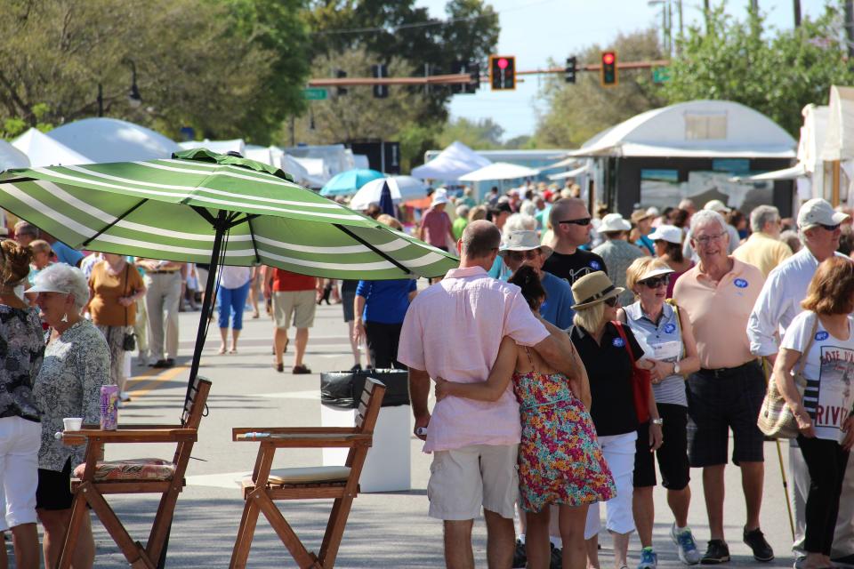
<path fill-rule="evenodd" d="M 498 254 L 511 271 L 526 264 L 536 270 L 545 289 L 545 302 L 540 314 L 546 322 L 566 329 L 572 325 L 575 301 L 569 283 L 543 270 L 543 263 L 552 254 L 552 247 L 540 244 L 536 231 L 513 231 Z"/>

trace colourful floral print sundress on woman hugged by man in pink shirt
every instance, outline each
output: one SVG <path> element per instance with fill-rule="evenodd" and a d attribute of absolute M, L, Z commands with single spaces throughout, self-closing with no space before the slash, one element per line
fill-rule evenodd
<path fill-rule="evenodd" d="M 522 508 L 582 506 L 616 496 L 614 477 L 602 456 L 590 413 L 569 389 L 563 373 L 513 373 L 520 404 L 522 440 L 519 485 Z"/>

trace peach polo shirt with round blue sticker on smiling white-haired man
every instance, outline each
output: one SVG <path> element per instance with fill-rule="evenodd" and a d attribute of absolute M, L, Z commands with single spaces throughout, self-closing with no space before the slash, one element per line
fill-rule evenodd
<path fill-rule="evenodd" d="M 705 369 L 737 367 L 755 359 L 747 339 L 747 318 L 765 277 L 759 268 L 730 259 L 732 270 L 717 283 L 697 265 L 673 287 L 673 299 L 688 312 Z"/>

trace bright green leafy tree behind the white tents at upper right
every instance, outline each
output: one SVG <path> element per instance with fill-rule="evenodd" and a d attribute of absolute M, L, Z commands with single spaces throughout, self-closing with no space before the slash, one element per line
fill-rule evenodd
<path fill-rule="evenodd" d="M 678 42 L 663 95 L 670 102 L 734 100 L 797 138 L 804 106 L 826 104 L 831 84 L 854 82 L 841 13 L 841 6 L 827 4 L 818 19 L 778 31 L 761 14 L 748 12 L 737 20 L 721 5 L 709 13 L 707 33 L 691 27 Z"/>

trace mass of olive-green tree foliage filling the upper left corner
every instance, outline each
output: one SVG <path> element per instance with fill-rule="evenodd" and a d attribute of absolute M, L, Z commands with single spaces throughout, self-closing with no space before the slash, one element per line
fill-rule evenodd
<path fill-rule="evenodd" d="M 234 4 L 238 4 L 236 1 Z M 298 0 L 7 0 L 0 18 L 0 124 L 105 116 L 175 137 L 265 142 L 302 105 Z M 141 108 L 127 92 L 136 66 Z M 36 104 L 47 105 L 42 120 Z"/>

